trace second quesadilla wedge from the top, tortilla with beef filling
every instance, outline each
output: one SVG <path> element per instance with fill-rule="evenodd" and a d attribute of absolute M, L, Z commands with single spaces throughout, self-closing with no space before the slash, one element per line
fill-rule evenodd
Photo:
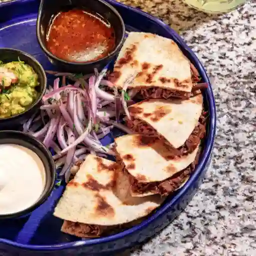
<path fill-rule="evenodd" d="M 191 153 L 205 133 L 201 94 L 186 100 L 146 99 L 128 111 L 127 126 L 135 133 L 163 139 L 173 156 Z"/>

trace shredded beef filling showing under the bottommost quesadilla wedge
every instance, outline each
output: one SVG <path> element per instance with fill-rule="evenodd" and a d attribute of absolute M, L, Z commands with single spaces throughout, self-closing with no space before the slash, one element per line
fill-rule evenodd
<path fill-rule="evenodd" d="M 107 228 L 107 226 L 83 224 L 68 220 L 64 220 L 62 226 L 64 232 L 78 237 L 98 237 L 103 234 Z"/>

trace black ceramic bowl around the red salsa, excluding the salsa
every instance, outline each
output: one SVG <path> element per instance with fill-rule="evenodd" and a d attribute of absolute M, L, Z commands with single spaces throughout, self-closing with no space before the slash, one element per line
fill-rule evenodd
<path fill-rule="evenodd" d="M 47 50 L 45 37 L 48 24 L 52 17 L 59 11 L 66 11 L 73 8 L 98 13 L 112 25 L 115 32 L 115 47 L 107 56 L 88 62 L 69 62 L 56 57 Z M 114 7 L 103 0 L 41 0 L 36 23 L 36 35 L 40 47 L 48 56 L 50 62 L 57 66 L 58 70 L 74 73 L 89 73 L 93 71 L 93 68 L 102 69 L 118 53 L 123 43 L 124 34 L 125 26 L 120 14 Z"/>

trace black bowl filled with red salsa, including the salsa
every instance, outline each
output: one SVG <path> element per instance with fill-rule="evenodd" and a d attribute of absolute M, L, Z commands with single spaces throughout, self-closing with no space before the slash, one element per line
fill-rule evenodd
<path fill-rule="evenodd" d="M 120 14 L 104 0 L 41 0 L 37 39 L 59 70 L 102 69 L 118 53 L 124 34 Z"/>

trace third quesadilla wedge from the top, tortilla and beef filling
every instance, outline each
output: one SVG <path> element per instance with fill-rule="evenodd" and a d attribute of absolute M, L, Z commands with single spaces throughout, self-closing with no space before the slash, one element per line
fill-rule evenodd
<path fill-rule="evenodd" d="M 129 178 L 131 195 L 146 196 L 174 191 L 194 169 L 199 146 L 187 155 L 173 157 L 162 140 L 127 134 L 115 138 L 114 150 Z"/>

